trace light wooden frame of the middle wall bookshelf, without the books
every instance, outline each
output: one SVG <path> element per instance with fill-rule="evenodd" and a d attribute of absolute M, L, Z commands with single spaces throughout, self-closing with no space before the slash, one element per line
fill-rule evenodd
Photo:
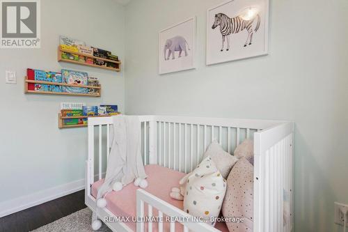
<path fill-rule="evenodd" d="M 28 84 L 49 84 L 54 86 L 70 86 L 70 87 L 79 87 L 79 88 L 96 88 L 99 89 L 98 94 L 91 93 L 64 93 L 64 92 L 48 92 L 48 91 L 33 91 L 28 89 Z M 42 82 L 24 78 L 24 93 L 36 93 L 36 94 L 50 94 L 50 95 L 72 95 L 72 96 L 85 96 L 85 97 L 100 97 L 102 95 L 102 86 L 84 86 L 77 84 L 66 84 L 58 82 Z"/>

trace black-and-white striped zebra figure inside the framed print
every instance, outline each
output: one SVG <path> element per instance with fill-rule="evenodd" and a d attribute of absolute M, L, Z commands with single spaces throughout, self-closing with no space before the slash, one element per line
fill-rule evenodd
<path fill-rule="evenodd" d="M 256 24 L 254 24 L 253 22 L 256 18 L 258 18 L 258 21 L 256 22 Z M 251 20 L 243 20 L 239 15 L 230 18 L 223 13 L 219 13 L 215 15 L 212 29 L 215 29 L 216 26 L 220 26 L 220 32 L 222 36 L 221 52 L 223 51 L 225 39 L 227 38 L 226 51 L 228 51 L 230 49 L 230 34 L 239 33 L 244 29 L 248 31 L 248 38 L 246 38 L 246 42 L 244 44 L 244 47 L 246 47 L 246 45 L 251 45 L 251 43 L 253 42 L 253 33 L 258 31 L 258 29 L 260 28 L 260 15 L 256 15 Z"/>

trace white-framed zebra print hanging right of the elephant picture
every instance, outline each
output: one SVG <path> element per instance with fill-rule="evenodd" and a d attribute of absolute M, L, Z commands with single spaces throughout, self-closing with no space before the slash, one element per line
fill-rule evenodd
<path fill-rule="evenodd" d="M 228 0 L 207 10 L 207 65 L 268 54 L 269 0 Z"/>

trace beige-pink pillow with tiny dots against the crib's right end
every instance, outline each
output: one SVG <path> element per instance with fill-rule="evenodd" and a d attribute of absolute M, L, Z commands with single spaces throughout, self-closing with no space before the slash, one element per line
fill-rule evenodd
<path fill-rule="evenodd" d="M 253 231 L 253 165 L 244 157 L 228 175 L 222 215 L 244 218 L 244 222 L 226 222 L 230 232 Z"/>

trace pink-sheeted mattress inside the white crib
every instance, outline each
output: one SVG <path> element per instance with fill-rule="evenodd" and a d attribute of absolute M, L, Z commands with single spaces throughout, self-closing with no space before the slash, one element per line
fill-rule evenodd
<path fill-rule="evenodd" d="M 179 180 L 185 175 L 185 173 L 161 167 L 156 164 L 146 165 L 145 172 L 148 175 L 148 187 L 145 188 L 146 192 L 157 196 L 159 199 L 170 203 L 172 206 L 180 209 L 184 208 L 183 201 L 172 199 L 171 196 L 169 196 L 169 192 L 171 192 L 172 187 L 178 185 Z M 91 192 L 94 197 L 97 196 L 97 189 L 102 185 L 102 183 L 104 183 L 104 179 L 93 183 Z M 138 188 L 139 187 L 136 187 L 133 184 L 129 184 L 120 192 L 112 191 L 109 194 L 106 194 L 106 208 L 118 217 L 136 217 L 136 190 Z M 153 211 L 153 215 L 157 216 L 157 211 Z M 148 212 L 146 204 L 144 212 Z M 127 226 L 129 226 L 133 231 L 136 231 L 136 222 L 132 222 L 131 220 L 131 222 L 125 222 L 125 224 L 127 224 Z M 145 226 L 147 225 L 148 224 L 146 223 Z M 223 222 L 216 223 L 215 227 L 220 231 L 228 231 L 226 224 Z M 157 231 L 157 228 L 157 224 L 153 223 L 153 230 Z M 164 231 L 169 231 L 169 223 L 164 222 Z M 182 225 L 175 224 L 175 231 L 182 231 Z"/>

